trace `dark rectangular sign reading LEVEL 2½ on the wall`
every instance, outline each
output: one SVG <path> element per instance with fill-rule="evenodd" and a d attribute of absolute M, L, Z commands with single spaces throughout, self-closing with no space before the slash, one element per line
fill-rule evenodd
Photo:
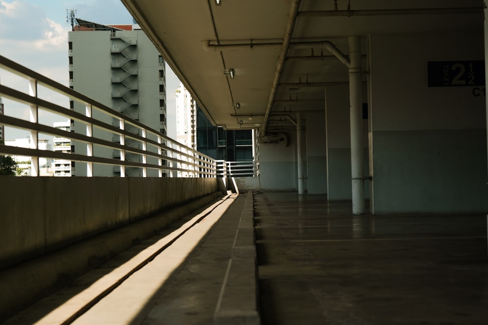
<path fill-rule="evenodd" d="M 485 61 L 427 62 L 429 87 L 484 86 Z"/>

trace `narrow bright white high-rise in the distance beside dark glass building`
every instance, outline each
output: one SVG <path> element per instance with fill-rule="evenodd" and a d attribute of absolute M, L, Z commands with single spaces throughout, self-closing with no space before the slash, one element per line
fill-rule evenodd
<path fill-rule="evenodd" d="M 196 103 L 188 90 L 180 82 L 176 96 L 176 140 L 187 147 L 197 149 Z"/>

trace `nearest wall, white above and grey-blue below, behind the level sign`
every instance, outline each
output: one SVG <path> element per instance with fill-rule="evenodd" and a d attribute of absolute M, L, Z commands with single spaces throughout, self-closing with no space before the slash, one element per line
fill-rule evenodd
<path fill-rule="evenodd" d="M 427 61 L 483 60 L 483 34 L 370 36 L 375 213 L 488 210 L 485 98 L 427 87 Z"/>

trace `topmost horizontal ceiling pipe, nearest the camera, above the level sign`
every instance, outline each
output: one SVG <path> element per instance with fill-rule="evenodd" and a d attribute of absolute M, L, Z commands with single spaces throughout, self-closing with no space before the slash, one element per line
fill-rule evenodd
<path fill-rule="evenodd" d="M 424 8 L 424 9 L 372 9 L 372 10 L 321 10 L 301 11 L 300 17 L 352 17 L 385 15 L 449 15 L 482 14 L 483 7 L 470 8 Z"/>

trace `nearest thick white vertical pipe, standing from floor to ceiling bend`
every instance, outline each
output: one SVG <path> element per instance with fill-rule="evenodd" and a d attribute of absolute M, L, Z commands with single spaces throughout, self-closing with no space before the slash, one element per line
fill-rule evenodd
<path fill-rule="evenodd" d="M 349 40 L 349 102 L 351 119 L 351 181 L 352 213 L 365 210 L 364 158 L 363 158 L 363 98 L 361 80 L 361 39 L 350 36 Z"/>

